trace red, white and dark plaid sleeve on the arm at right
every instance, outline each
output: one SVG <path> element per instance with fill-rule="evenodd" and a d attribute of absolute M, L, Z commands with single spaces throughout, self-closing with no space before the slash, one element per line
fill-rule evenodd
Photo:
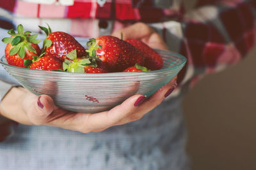
<path fill-rule="evenodd" d="M 254 45 L 256 1 L 228 2 L 201 6 L 180 24 L 182 38 L 174 50 L 188 57 L 182 85 L 193 87 L 205 74 L 236 64 Z M 165 39 L 168 35 L 168 31 L 163 34 Z"/>

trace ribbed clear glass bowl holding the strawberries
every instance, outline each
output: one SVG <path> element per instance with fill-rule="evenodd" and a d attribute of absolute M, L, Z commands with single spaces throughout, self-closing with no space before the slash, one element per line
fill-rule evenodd
<path fill-rule="evenodd" d="M 33 94 L 47 94 L 66 110 L 97 113 L 113 108 L 134 94 L 150 96 L 176 76 L 184 67 L 182 55 L 156 50 L 164 66 L 157 71 L 127 73 L 67 73 L 10 66 L 5 57 L 1 64 L 20 85 Z"/>

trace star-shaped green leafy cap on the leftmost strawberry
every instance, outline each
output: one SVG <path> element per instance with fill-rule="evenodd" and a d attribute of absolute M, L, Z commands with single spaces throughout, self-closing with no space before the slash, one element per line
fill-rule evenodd
<path fill-rule="evenodd" d="M 31 35 L 31 31 L 24 31 L 24 27 L 21 24 L 17 27 L 17 33 L 13 29 L 10 29 L 7 33 L 11 37 L 3 38 L 2 41 L 6 44 L 12 44 L 13 48 L 10 50 L 10 55 L 18 53 L 19 57 L 24 59 L 26 50 L 36 53 L 35 48 L 31 44 L 40 43 L 40 40 L 36 39 L 38 34 Z"/>

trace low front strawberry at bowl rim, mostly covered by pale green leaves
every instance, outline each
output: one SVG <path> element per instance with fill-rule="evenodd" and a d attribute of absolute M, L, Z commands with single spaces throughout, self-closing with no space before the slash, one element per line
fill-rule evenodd
<path fill-rule="evenodd" d="M 63 70 L 72 73 L 107 73 L 105 69 L 97 66 L 97 63 L 88 58 L 77 58 L 76 50 L 67 54 L 63 62 Z"/>

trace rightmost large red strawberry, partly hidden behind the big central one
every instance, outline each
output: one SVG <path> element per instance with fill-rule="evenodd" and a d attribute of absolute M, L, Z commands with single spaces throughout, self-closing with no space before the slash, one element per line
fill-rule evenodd
<path fill-rule="evenodd" d="M 161 56 L 148 45 L 138 39 L 126 39 L 125 41 L 135 46 L 143 54 L 145 67 L 151 70 L 157 70 L 163 67 L 163 59 Z"/>

